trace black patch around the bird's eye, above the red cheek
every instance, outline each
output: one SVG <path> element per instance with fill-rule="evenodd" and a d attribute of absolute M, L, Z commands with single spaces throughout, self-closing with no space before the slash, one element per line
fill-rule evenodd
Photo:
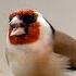
<path fill-rule="evenodd" d="M 23 16 L 20 16 L 20 17 L 26 24 L 31 24 L 31 23 L 34 23 L 37 20 L 37 15 L 36 14 L 23 15 Z"/>

